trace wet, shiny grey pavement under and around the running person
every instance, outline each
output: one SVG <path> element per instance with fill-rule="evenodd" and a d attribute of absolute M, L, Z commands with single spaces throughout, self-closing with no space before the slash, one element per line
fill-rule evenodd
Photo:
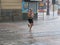
<path fill-rule="evenodd" d="M 28 22 L 0 23 L 0 45 L 60 45 L 60 17 L 35 20 L 29 32 Z"/>

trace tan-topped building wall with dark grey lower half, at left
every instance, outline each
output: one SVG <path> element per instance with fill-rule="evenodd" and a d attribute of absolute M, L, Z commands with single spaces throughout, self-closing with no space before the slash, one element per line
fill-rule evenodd
<path fill-rule="evenodd" d="M 0 21 L 21 20 L 22 0 L 0 0 Z"/>

